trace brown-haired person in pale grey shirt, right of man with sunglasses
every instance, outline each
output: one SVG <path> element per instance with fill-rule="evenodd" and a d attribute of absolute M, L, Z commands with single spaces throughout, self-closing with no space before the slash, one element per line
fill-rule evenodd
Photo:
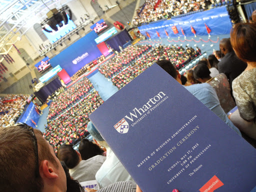
<path fill-rule="evenodd" d="M 70 175 L 79 182 L 95 180 L 95 174 L 105 161 L 103 155 L 95 155 L 82 160 L 79 152 L 72 145 L 63 144 L 57 150 L 57 158 L 63 160 L 69 168 Z"/>

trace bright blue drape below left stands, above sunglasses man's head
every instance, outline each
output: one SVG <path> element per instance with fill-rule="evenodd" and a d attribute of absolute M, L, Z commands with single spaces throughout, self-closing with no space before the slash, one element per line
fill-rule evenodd
<path fill-rule="evenodd" d="M 34 103 L 30 102 L 26 108 L 26 111 L 22 114 L 22 117 L 17 122 L 24 122 L 27 125 L 35 128 L 39 117 L 40 115 L 36 112 Z"/>

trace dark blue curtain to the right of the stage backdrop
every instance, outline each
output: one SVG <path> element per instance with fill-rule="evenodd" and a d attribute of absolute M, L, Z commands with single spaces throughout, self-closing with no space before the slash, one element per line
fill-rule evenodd
<path fill-rule="evenodd" d="M 109 44 L 111 48 L 114 50 L 120 51 L 119 45 L 122 46 L 126 42 L 131 40 L 131 37 L 126 29 L 121 31 L 119 34 L 114 36 L 113 38 L 110 38 L 106 41 L 106 44 Z"/>

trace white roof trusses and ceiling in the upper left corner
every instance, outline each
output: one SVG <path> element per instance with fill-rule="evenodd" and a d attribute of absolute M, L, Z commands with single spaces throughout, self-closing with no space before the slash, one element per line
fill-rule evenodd
<path fill-rule="evenodd" d="M 60 0 L 0 0 L 0 54 L 6 54 L 10 50 L 12 45 L 6 44 L 15 43 L 34 23 L 45 19 L 49 9 L 59 9 L 61 4 L 69 1 L 71 0 L 61 3 Z"/>

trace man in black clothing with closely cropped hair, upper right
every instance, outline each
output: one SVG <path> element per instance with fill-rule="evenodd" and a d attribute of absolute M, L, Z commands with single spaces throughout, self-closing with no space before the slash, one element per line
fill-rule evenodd
<path fill-rule="evenodd" d="M 218 71 L 226 75 L 231 85 L 233 79 L 241 74 L 247 64 L 235 55 L 229 38 L 222 38 L 220 40 L 219 49 L 224 56 L 218 63 Z"/>

